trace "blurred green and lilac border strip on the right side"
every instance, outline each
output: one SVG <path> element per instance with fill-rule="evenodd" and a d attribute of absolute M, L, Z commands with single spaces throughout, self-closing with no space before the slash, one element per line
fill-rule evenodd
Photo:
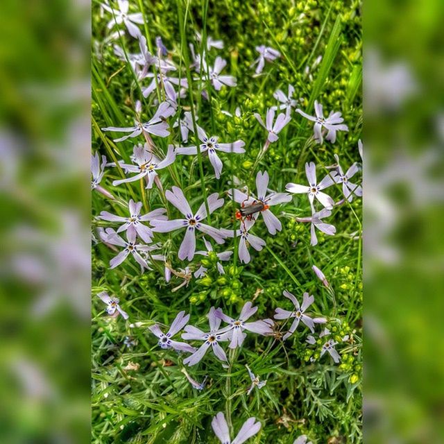
<path fill-rule="evenodd" d="M 444 2 L 364 2 L 364 437 L 442 443 Z"/>

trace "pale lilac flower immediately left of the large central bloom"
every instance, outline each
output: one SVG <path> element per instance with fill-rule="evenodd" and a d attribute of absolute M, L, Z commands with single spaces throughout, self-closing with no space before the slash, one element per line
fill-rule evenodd
<path fill-rule="evenodd" d="M 116 216 L 108 211 L 103 211 L 99 214 L 99 219 L 110 222 L 123 222 L 123 225 L 117 229 L 118 233 L 127 230 L 128 233 L 131 233 L 132 237 L 137 233 L 139 234 L 140 239 L 149 244 L 153 238 L 153 232 L 151 231 L 151 228 L 148 228 L 142 222 L 150 222 L 156 219 L 160 221 L 167 220 L 167 216 L 164 216 L 164 212 L 167 210 L 164 208 L 157 208 L 156 210 L 141 216 L 140 210 L 142 210 L 142 202 L 135 203 L 133 199 L 130 199 L 128 208 L 130 210 L 129 217 Z"/>

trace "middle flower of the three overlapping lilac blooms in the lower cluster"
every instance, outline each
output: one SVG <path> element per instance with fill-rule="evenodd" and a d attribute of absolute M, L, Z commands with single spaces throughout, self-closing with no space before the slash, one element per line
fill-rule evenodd
<path fill-rule="evenodd" d="M 187 341 L 204 341 L 193 355 L 190 355 L 183 360 L 185 365 L 190 367 L 195 366 L 205 356 L 205 353 L 210 347 L 217 358 L 221 361 L 227 361 L 227 355 L 225 355 L 223 348 L 219 345 L 219 341 L 228 341 L 230 335 L 227 332 L 221 332 L 219 330 L 221 318 L 216 316 L 219 310 L 220 309 L 214 309 L 214 307 L 211 307 L 208 312 L 207 316 L 208 322 L 210 323 L 210 332 L 204 333 L 202 330 L 194 327 L 194 325 L 187 325 L 187 327 L 185 327 L 185 333 L 182 333 L 182 339 L 186 339 Z"/>

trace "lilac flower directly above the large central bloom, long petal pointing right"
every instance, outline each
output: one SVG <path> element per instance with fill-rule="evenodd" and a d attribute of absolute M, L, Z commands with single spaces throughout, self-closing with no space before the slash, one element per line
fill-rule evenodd
<path fill-rule="evenodd" d="M 245 153 L 244 146 L 245 142 L 243 140 L 237 140 L 236 142 L 232 142 L 231 144 L 221 144 L 218 142 L 218 138 L 216 136 L 208 137 L 205 134 L 205 131 L 202 128 L 198 128 L 198 137 L 202 144 L 199 145 L 200 153 L 207 154 L 210 157 L 210 162 L 214 168 L 214 173 L 216 174 L 216 179 L 221 177 L 223 164 L 219 159 L 216 151 L 222 151 L 223 153 L 236 153 L 242 154 Z M 178 154 L 187 154 L 187 155 L 196 155 L 197 147 L 196 146 L 180 146 L 176 149 L 176 153 Z"/>

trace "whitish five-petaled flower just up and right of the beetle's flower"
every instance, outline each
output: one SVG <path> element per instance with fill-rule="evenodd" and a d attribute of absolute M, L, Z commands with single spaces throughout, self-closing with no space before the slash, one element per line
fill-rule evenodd
<path fill-rule="evenodd" d="M 314 210 L 314 198 L 318 199 L 321 204 L 327 208 L 327 210 L 332 210 L 334 205 L 334 200 L 321 191 L 321 189 L 325 189 L 334 184 L 334 176 L 336 176 L 336 171 L 332 171 L 332 173 L 327 174 L 321 182 L 317 182 L 316 180 L 316 165 L 314 162 L 305 164 L 305 174 L 307 175 L 307 180 L 309 185 L 297 185 L 295 183 L 287 183 L 285 185 L 285 189 L 290 193 L 294 194 L 307 194 L 310 205 L 311 212 L 315 212 Z"/>

